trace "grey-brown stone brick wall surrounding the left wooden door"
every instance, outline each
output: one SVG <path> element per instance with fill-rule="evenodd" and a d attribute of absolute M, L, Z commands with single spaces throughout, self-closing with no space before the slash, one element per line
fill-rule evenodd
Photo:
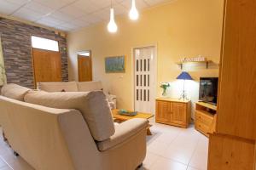
<path fill-rule="evenodd" d="M 68 81 L 67 39 L 38 26 L 0 17 L 0 36 L 8 83 L 34 88 L 31 36 L 45 37 L 59 42 L 62 81 Z"/>

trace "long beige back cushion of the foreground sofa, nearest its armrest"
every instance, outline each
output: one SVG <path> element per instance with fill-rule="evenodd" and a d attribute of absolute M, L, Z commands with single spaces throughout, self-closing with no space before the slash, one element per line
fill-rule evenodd
<path fill-rule="evenodd" d="M 26 94 L 25 101 L 58 109 L 79 110 L 90 128 L 90 133 L 97 141 L 108 139 L 114 133 L 108 99 L 102 91 L 65 93 L 31 91 Z"/>

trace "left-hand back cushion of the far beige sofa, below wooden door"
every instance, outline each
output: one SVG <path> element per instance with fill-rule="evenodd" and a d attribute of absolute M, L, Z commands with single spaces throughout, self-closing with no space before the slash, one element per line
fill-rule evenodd
<path fill-rule="evenodd" d="M 38 89 L 45 92 L 77 92 L 77 82 L 38 82 Z"/>

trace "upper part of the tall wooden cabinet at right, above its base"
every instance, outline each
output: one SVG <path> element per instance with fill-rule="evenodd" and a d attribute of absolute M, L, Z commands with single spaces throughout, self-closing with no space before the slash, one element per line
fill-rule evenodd
<path fill-rule="evenodd" d="M 256 3 L 226 1 L 218 133 L 256 139 Z"/>

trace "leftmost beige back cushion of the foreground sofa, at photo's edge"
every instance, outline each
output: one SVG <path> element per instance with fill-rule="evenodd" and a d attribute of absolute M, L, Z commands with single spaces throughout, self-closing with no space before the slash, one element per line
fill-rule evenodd
<path fill-rule="evenodd" d="M 10 99 L 24 101 L 25 94 L 30 91 L 30 88 L 25 88 L 17 84 L 5 84 L 1 89 L 1 95 Z"/>

